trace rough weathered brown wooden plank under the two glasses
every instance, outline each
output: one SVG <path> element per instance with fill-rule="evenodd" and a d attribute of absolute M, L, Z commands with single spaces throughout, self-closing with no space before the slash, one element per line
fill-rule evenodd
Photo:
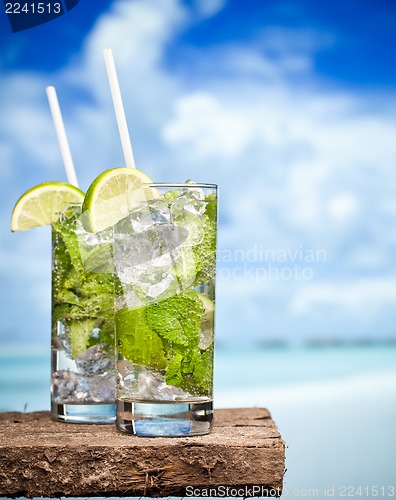
<path fill-rule="evenodd" d="M 199 496 L 210 488 L 279 496 L 284 462 L 282 438 L 262 408 L 216 410 L 213 432 L 188 438 L 129 436 L 111 425 L 54 422 L 48 412 L 0 413 L 0 496 Z"/>

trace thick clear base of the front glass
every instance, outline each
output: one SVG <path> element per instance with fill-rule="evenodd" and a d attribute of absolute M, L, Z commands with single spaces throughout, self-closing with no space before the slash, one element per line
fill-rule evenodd
<path fill-rule="evenodd" d="M 136 436 L 183 437 L 208 434 L 213 401 L 142 402 L 117 400 L 117 430 Z"/>

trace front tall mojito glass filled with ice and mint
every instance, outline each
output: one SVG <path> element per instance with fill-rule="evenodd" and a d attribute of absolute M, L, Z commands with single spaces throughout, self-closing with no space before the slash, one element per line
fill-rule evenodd
<path fill-rule="evenodd" d="M 217 186 L 150 184 L 114 228 L 117 429 L 207 434 L 213 420 Z"/>

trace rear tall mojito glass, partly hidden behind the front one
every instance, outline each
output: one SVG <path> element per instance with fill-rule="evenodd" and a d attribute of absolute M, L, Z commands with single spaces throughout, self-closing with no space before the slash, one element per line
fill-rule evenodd
<path fill-rule="evenodd" d="M 112 234 L 87 233 L 81 209 L 52 228 L 52 380 L 55 420 L 115 420 Z"/>

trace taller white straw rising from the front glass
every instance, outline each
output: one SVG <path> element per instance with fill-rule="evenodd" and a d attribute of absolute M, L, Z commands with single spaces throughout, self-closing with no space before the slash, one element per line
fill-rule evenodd
<path fill-rule="evenodd" d="M 121 137 L 125 165 L 130 168 L 136 168 L 135 160 L 133 158 L 131 139 L 128 132 L 128 124 L 125 118 L 124 106 L 122 104 L 120 85 L 118 83 L 117 71 L 114 64 L 113 52 L 111 49 L 103 49 L 103 55 L 106 64 L 107 77 L 110 84 L 111 96 L 113 98 L 114 111 L 117 118 L 118 131 Z"/>

